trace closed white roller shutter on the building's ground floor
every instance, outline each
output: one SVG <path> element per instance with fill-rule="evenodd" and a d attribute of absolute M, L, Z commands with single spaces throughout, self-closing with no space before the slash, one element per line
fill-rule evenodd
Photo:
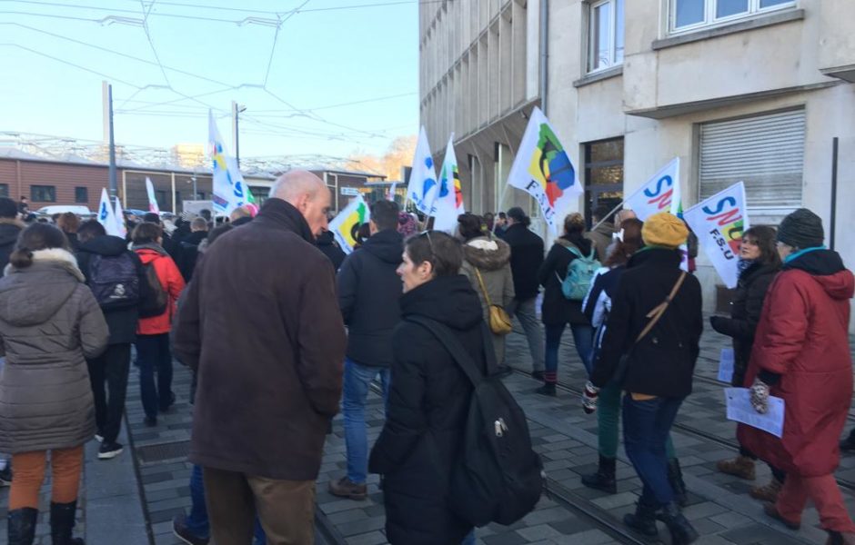
<path fill-rule="evenodd" d="M 803 109 L 700 125 L 700 198 L 745 182 L 750 222 L 780 223 L 801 206 Z"/>

